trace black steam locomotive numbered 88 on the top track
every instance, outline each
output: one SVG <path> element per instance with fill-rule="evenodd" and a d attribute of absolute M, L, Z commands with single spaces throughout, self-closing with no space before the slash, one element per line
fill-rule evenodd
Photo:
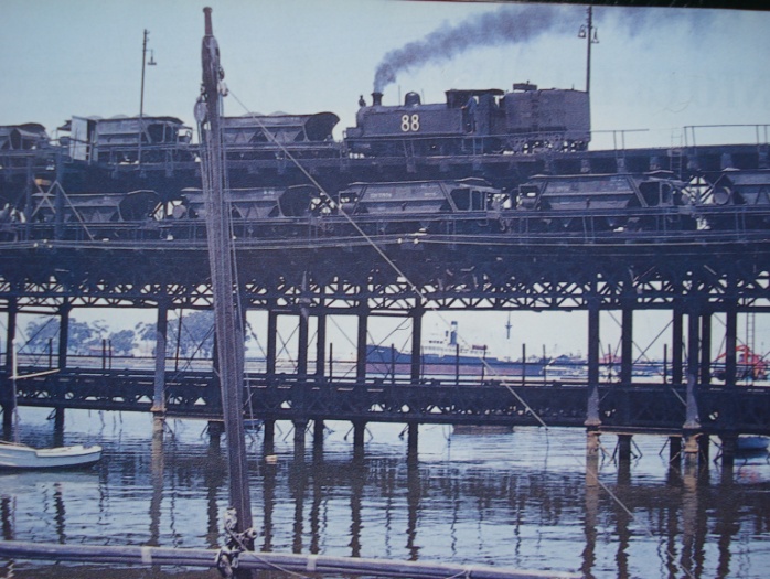
<path fill-rule="evenodd" d="M 446 104 L 424 105 L 407 93 L 404 105 L 362 100 L 345 143 L 363 156 L 448 156 L 584 150 L 590 140 L 588 93 L 514 84 L 513 92 L 447 90 Z"/>

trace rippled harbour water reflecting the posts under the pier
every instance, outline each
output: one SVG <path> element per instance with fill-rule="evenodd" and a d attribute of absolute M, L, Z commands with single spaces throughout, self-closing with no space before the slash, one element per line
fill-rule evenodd
<path fill-rule="evenodd" d="M 21 439 L 52 444 L 47 410 L 21 410 Z M 145 415 L 69 410 L 65 440 L 99 443 L 83 472 L 0 474 L 3 539 L 214 548 L 224 544 L 224 444 L 206 423 L 169 420 L 153 444 Z M 731 471 L 671 469 L 662 437 L 634 437 L 630 469 L 612 460 L 616 437 L 587 474 L 585 433 L 518 429 L 452 435 L 423 426 L 416 462 L 403 426 L 370 425 L 363 459 L 347 422 L 329 422 L 323 452 L 293 449 L 279 422 L 277 463 L 249 436 L 257 546 L 276 553 L 485 564 L 582 572 L 593 578 L 741 578 L 770 572 L 770 462 Z M 718 447 L 712 443 L 712 459 Z M 588 468 L 590 470 L 590 468 Z M 107 569 L 0 561 L 0 577 L 214 578 L 213 570 Z"/>

